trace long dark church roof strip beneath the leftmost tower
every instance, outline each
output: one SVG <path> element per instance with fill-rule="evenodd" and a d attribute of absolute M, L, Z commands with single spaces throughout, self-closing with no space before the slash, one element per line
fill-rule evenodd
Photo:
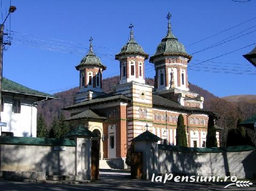
<path fill-rule="evenodd" d="M 114 95 L 114 96 L 108 96 L 108 97 L 103 97 L 103 98 L 96 98 L 96 99 L 89 100 L 89 101 L 84 101 L 84 102 L 81 102 L 81 103 L 76 103 L 74 105 L 68 106 L 67 108 L 63 108 L 63 110 L 83 108 L 84 106 L 106 103 L 106 102 L 112 102 L 112 101 L 117 101 L 117 100 L 130 101 L 131 99 L 124 96 L 124 95 Z"/>

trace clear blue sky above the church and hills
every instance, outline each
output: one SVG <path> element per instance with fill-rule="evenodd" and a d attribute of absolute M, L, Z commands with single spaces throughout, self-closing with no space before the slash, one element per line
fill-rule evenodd
<path fill-rule="evenodd" d="M 95 52 L 107 66 L 104 78 L 119 75 L 119 63 L 114 55 L 127 42 L 130 23 L 134 25 L 136 41 L 152 56 L 166 34 L 168 12 L 172 14 L 172 32 L 188 54 L 230 40 L 193 54 L 189 66 L 256 43 L 255 0 L 247 3 L 12 0 L 11 4 L 17 11 L 11 15 L 13 40 L 4 51 L 3 76 L 50 94 L 78 86 L 75 66 L 86 55 L 90 36 L 94 39 Z M 9 5 L 10 0 L 2 0 L 4 18 Z M 10 20 L 6 21 L 6 29 L 9 23 Z M 215 35 L 228 28 L 231 29 Z M 215 36 L 206 39 L 212 35 Z M 195 43 L 202 39 L 206 40 Z M 189 82 L 220 97 L 256 94 L 256 68 L 242 56 L 255 45 L 189 67 Z M 152 66 L 146 63 L 147 77 L 155 75 Z"/>

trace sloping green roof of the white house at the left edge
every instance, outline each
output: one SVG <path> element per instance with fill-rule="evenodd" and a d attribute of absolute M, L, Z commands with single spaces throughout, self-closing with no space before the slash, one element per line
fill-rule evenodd
<path fill-rule="evenodd" d="M 8 93 L 15 93 L 15 94 L 31 95 L 36 97 L 57 98 L 54 95 L 46 94 L 41 91 L 28 88 L 26 86 L 20 85 L 19 83 L 16 83 L 4 77 L 3 77 L 3 83 L 2 83 L 2 91 L 8 92 Z"/>

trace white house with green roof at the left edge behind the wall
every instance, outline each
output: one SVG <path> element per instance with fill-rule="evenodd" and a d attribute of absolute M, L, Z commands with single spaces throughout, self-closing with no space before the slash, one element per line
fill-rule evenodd
<path fill-rule="evenodd" d="M 38 102 L 53 98 L 57 97 L 3 78 L 1 121 L 7 126 L 2 127 L 0 133 L 6 136 L 36 137 L 36 106 Z"/>

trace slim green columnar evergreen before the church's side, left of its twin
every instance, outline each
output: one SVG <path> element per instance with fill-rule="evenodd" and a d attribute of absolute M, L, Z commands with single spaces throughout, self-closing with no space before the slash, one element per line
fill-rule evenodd
<path fill-rule="evenodd" d="M 176 129 L 176 145 L 181 147 L 187 147 L 187 135 L 184 125 L 184 118 L 182 114 L 179 114 Z"/>

